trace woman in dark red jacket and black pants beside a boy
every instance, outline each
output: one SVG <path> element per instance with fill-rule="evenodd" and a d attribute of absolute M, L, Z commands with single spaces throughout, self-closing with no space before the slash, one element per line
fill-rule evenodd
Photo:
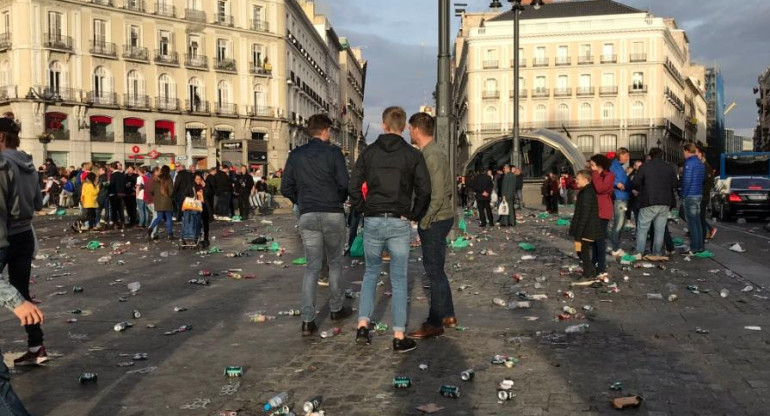
<path fill-rule="evenodd" d="M 596 198 L 599 200 L 599 223 L 603 229 L 607 228 L 614 212 L 612 203 L 613 183 L 615 175 L 610 172 L 612 162 L 604 155 L 591 156 L 592 184 L 596 190 Z M 594 242 L 593 262 L 599 277 L 607 274 L 607 240 L 597 239 Z"/>

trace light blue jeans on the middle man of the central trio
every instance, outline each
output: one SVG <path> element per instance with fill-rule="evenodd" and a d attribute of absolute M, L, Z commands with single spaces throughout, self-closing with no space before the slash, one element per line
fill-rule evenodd
<path fill-rule="evenodd" d="M 407 266 L 409 261 L 409 221 L 399 218 L 364 218 L 364 256 L 366 272 L 358 302 L 358 320 L 371 321 L 377 279 L 382 270 L 382 249 L 390 252 L 390 285 L 393 289 L 391 309 L 393 331 L 406 331 Z"/>

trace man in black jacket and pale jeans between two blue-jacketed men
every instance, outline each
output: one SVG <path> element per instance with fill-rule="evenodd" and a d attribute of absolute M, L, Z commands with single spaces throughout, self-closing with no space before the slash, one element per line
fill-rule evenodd
<path fill-rule="evenodd" d="M 651 261 L 668 260 L 663 255 L 663 239 L 666 235 L 668 213 L 675 206 L 677 187 L 676 171 L 663 161 L 663 150 L 654 147 L 650 149 L 649 161 L 643 164 L 634 176 L 634 189 L 639 192 L 639 220 L 636 228 L 637 260 L 645 258 Z M 647 246 L 647 235 L 650 226 L 655 229 L 652 252 L 644 256 Z"/>

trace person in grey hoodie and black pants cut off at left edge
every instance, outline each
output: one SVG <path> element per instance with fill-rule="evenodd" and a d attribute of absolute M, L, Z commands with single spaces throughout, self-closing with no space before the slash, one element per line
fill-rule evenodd
<path fill-rule="evenodd" d="M 11 119 L 0 118 L 0 152 L 5 169 L 10 171 L 13 180 L 13 188 L 6 189 L 0 196 L 3 200 L 6 214 L 2 218 L 3 234 L 0 241 L 5 245 L 2 248 L 4 258 L 0 272 L 8 266 L 8 282 L 19 291 L 25 300 L 31 301 L 29 294 L 29 281 L 32 276 L 32 259 L 37 246 L 37 239 L 32 228 L 32 218 L 35 212 L 43 209 L 43 196 L 40 192 L 37 170 L 32 162 L 32 157 L 25 152 L 17 150 L 21 141 L 19 132 L 21 129 Z M 50 165 L 49 165 L 50 166 Z M 58 173 L 57 173 L 58 174 Z M 3 174 L 7 179 L 8 173 Z M 13 195 L 13 199 L 6 199 Z M 10 204 L 10 205 L 9 205 Z M 10 211 L 7 209 L 10 208 Z M 14 365 L 40 365 L 48 361 L 48 355 L 43 345 L 43 330 L 39 323 L 25 325 L 27 332 L 27 351 L 19 358 L 13 360 Z M 1 402 L 0 402 L 1 403 Z"/>

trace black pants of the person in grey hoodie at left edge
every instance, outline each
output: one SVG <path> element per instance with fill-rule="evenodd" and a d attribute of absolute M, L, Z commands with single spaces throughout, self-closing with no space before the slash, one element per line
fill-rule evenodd
<path fill-rule="evenodd" d="M 21 234 L 8 236 L 8 281 L 21 293 L 24 299 L 31 301 L 29 296 L 29 278 L 32 272 L 32 253 L 35 251 L 35 236 L 32 230 Z M 37 347 L 43 345 L 43 330 L 40 324 L 26 325 L 27 345 Z"/>

